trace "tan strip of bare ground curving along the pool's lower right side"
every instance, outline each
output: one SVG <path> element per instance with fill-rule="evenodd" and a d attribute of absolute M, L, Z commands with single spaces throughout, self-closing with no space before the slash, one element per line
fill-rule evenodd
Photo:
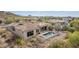
<path fill-rule="evenodd" d="M 56 40 L 63 40 L 67 36 L 67 32 L 65 32 L 65 31 L 64 32 L 61 31 L 61 32 L 58 32 L 58 33 L 59 33 L 58 36 L 51 37 L 48 40 L 46 40 L 43 44 L 41 44 L 41 48 L 47 48 L 54 41 L 56 41 Z M 43 39 L 43 38 L 40 38 L 40 39 Z"/>

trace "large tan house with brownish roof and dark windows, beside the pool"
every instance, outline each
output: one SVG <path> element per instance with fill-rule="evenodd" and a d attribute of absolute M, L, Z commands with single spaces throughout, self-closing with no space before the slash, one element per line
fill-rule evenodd
<path fill-rule="evenodd" d="M 36 36 L 37 34 L 41 33 L 42 31 L 48 30 L 48 24 L 47 23 L 32 23 L 32 22 L 26 22 L 26 23 L 14 23 L 9 25 L 9 30 L 16 33 L 19 37 L 22 37 L 24 39 L 29 39 L 33 36 Z"/>

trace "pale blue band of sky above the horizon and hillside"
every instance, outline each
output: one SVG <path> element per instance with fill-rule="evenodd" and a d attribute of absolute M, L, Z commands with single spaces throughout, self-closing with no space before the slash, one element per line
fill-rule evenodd
<path fill-rule="evenodd" d="M 73 16 L 79 17 L 79 11 L 10 11 L 21 16 Z"/>

